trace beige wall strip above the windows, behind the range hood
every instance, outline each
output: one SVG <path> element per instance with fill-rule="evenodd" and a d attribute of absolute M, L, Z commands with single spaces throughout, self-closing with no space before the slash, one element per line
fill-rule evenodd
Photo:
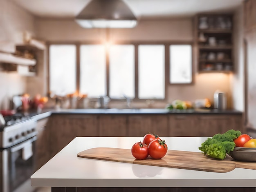
<path fill-rule="evenodd" d="M 106 29 L 83 29 L 74 20 L 40 19 L 39 38 L 49 41 L 105 41 Z M 133 29 L 110 29 L 110 40 L 193 40 L 191 18 L 140 20 Z"/>

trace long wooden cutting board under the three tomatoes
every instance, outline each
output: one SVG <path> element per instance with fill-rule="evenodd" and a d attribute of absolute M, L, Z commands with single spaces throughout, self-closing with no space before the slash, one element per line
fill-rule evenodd
<path fill-rule="evenodd" d="M 134 163 L 140 165 L 153 165 L 160 167 L 172 167 L 188 170 L 199 170 L 207 172 L 225 173 L 234 170 L 236 162 L 215 160 L 204 156 L 200 152 L 187 152 L 168 150 L 162 159 L 150 159 L 150 156 L 144 160 L 135 159 L 130 149 L 98 147 L 79 152 L 78 157 L 88 159 L 99 159 L 106 161 L 116 161 L 123 163 Z M 256 164 L 254 165 L 256 169 Z"/>

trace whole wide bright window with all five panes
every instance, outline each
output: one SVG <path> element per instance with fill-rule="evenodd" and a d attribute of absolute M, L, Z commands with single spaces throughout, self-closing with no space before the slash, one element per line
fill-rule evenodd
<path fill-rule="evenodd" d="M 191 45 L 137 42 L 49 46 L 49 91 L 59 96 L 78 91 L 89 98 L 162 100 L 166 76 L 173 84 L 192 82 Z"/>

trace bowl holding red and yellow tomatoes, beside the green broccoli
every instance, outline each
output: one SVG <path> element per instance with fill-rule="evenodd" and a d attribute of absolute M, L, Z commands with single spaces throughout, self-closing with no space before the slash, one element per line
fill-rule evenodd
<path fill-rule="evenodd" d="M 234 139 L 236 146 L 228 154 L 237 161 L 256 161 L 256 138 L 242 134 Z"/>

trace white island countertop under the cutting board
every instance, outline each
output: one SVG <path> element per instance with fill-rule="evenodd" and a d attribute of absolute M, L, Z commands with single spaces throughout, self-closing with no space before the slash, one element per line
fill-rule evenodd
<path fill-rule="evenodd" d="M 77 157 L 93 147 L 130 149 L 143 137 L 76 137 L 31 176 L 32 186 L 50 187 L 256 187 L 256 170 L 227 173 L 137 165 Z M 162 137 L 169 150 L 201 152 L 207 137 Z"/>

